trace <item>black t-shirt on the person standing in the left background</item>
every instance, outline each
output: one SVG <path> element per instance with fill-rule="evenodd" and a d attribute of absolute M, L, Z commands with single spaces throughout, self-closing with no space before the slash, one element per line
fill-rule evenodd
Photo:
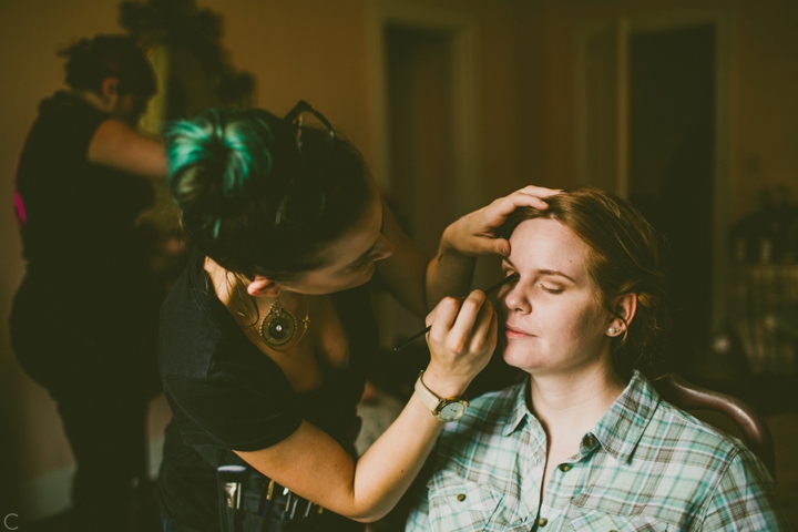
<path fill-rule="evenodd" d="M 40 104 L 17 170 L 29 270 L 66 270 L 70 277 L 61 280 L 69 283 L 110 268 L 113 278 L 146 269 L 135 219 L 154 203 L 150 182 L 88 160 L 91 140 L 109 117 L 68 92 Z"/>

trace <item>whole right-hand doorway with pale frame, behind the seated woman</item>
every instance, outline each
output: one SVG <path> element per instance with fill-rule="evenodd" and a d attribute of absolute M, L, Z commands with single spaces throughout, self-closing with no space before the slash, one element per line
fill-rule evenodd
<path fill-rule="evenodd" d="M 724 9 L 579 28 L 580 182 L 630 200 L 671 242 L 675 369 L 727 320 L 732 17 Z"/>

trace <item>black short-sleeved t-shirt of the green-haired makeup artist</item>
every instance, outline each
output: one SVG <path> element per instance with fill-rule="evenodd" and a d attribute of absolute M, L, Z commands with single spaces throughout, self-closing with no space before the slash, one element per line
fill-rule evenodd
<path fill-rule="evenodd" d="M 161 376 L 174 419 L 166 428 L 158 491 L 177 530 L 204 532 L 218 530 L 212 462 L 224 450 L 264 449 L 307 419 L 354 453 L 351 428 L 377 326 L 366 287 L 334 294 L 349 364 L 325 369 L 321 388 L 297 393 L 218 300 L 203 259 L 192 254 L 161 309 Z"/>

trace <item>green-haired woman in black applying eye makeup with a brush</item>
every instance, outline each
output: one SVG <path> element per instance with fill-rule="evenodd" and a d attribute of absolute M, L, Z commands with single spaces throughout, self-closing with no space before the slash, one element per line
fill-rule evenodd
<path fill-rule="evenodd" d="M 193 252 L 161 313 L 174 412 L 160 473 L 164 531 L 362 530 L 462 415 L 461 396 L 493 351 L 493 308 L 468 294 L 475 256 L 509 253 L 493 229 L 518 206 L 545 208 L 552 191 L 530 186 L 460 218 L 430 259 L 359 152 L 306 102 L 285 117 L 211 110 L 173 124 L 166 147 Z M 356 460 L 356 406 L 377 350 L 372 277 L 419 316 L 434 307 L 431 361 Z"/>

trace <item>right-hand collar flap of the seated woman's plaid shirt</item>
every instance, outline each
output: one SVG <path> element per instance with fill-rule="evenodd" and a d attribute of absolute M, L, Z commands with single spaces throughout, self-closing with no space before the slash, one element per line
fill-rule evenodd
<path fill-rule="evenodd" d="M 607 453 L 625 462 L 632 457 L 658 403 L 659 395 L 635 370 L 626 389 L 594 427 L 593 436 Z"/>

